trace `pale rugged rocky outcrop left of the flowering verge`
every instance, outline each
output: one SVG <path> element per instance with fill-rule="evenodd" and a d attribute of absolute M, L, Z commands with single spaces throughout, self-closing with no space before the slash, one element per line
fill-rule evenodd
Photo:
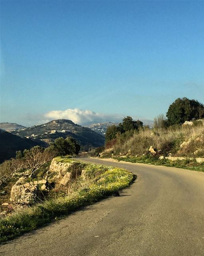
<path fill-rule="evenodd" d="M 81 169 L 80 162 L 57 162 L 53 159 L 43 179 L 27 182 L 27 177 L 23 176 L 15 183 L 11 189 L 10 202 L 14 207 L 32 205 L 55 186 L 71 191 L 71 181 L 81 175 Z"/>

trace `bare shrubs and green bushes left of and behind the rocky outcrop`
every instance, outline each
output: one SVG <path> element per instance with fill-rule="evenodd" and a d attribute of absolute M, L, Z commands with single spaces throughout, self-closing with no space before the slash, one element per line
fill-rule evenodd
<path fill-rule="evenodd" d="M 42 180 L 56 156 L 77 155 L 80 145 L 73 138 L 57 138 L 48 148 L 34 146 L 29 150 L 17 151 L 16 158 L 0 164 L 0 218 L 13 212 L 10 197 L 12 187 L 22 177 L 26 182 Z M 45 195 L 44 195 L 45 194 Z M 47 196 L 39 192 L 39 198 Z"/>

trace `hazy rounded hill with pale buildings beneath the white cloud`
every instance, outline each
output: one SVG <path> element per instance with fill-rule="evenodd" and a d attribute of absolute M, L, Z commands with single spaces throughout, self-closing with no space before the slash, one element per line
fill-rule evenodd
<path fill-rule="evenodd" d="M 12 134 L 22 138 L 33 138 L 44 142 L 53 142 L 56 138 L 71 136 L 76 139 L 83 150 L 91 147 L 104 145 L 104 136 L 93 130 L 75 124 L 71 120 L 59 119 L 52 120 L 46 124 L 35 125 L 22 130 L 12 131 Z"/>

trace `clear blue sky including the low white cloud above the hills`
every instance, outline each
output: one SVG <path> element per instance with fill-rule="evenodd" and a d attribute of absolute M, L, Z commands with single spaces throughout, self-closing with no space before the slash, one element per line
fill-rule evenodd
<path fill-rule="evenodd" d="M 204 1 L 1 1 L 0 122 L 153 119 L 204 103 Z"/>

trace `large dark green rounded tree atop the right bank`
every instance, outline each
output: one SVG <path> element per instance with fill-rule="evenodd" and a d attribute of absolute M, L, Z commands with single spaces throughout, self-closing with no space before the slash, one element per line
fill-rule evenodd
<path fill-rule="evenodd" d="M 167 119 L 170 125 L 183 124 L 185 121 L 196 120 L 204 117 L 204 106 L 197 100 L 178 98 L 167 111 Z"/>

